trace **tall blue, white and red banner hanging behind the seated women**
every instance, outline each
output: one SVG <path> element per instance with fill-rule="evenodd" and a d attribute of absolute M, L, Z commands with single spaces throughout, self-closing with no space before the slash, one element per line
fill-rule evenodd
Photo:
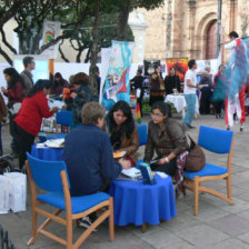
<path fill-rule="evenodd" d="M 103 86 L 102 104 L 107 110 L 119 100 L 130 103 L 129 72 L 135 43 L 112 41 L 109 68 Z"/>

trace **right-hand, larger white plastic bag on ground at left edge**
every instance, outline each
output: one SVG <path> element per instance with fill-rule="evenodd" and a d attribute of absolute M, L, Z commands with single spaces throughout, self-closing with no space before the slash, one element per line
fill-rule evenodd
<path fill-rule="evenodd" d="M 12 212 L 26 211 L 27 176 L 19 172 L 4 176 L 9 179 L 10 209 Z"/>

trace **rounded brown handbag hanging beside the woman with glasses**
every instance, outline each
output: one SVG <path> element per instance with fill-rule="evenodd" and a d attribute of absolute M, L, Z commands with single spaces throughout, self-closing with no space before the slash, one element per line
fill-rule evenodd
<path fill-rule="evenodd" d="M 199 145 L 197 145 L 192 138 L 188 135 L 190 139 L 189 155 L 186 159 L 185 169 L 188 171 L 199 171 L 206 166 L 205 152 Z"/>

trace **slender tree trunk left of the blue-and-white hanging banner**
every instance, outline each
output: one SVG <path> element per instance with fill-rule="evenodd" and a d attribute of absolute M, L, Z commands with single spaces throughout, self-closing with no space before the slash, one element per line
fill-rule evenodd
<path fill-rule="evenodd" d="M 98 27 L 99 27 L 99 9 L 100 9 L 100 0 L 96 0 L 96 10 L 94 10 L 94 23 L 92 27 L 92 47 L 91 47 L 91 57 L 90 57 L 90 69 L 89 69 L 89 77 L 90 77 L 90 86 L 94 94 L 98 94 L 98 83 L 94 74 L 94 68 L 97 64 L 98 59 Z M 90 49 L 90 48 L 89 48 Z"/>

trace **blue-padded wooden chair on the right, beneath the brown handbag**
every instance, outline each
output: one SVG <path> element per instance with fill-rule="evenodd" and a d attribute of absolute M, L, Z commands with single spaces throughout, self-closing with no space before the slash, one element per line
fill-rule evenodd
<path fill-rule="evenodd" d="M 195 192 L 195 216 L 198 216 L 199 211 L 199 192 L 213 195 L 228 201 L 230 205 L 235 203 L 231 200 L 233 132 L 201 126 L 199 130 L 198 145 L 213 153 L 227 155 L 227 168 L 206 163 L 203 169 L 197 172 L 185 170 L 186 188 Z M 217 190 L 203 187 L 202 182 L 206 180 L 227 180 L 227 196 Z"/>

